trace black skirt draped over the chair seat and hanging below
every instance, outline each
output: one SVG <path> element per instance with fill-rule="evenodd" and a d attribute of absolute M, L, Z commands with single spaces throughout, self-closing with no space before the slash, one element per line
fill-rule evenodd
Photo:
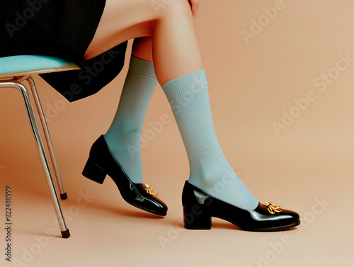
<path fill-rule="evenodd" d="M 41 76 L 70 102 L 91 96 L 119 74 L 127 46 L 84 60 L 104 7 L 105 0 L 0 0 L 0 57 L 47 55 L 75 62 L 80 70 Z"/>

